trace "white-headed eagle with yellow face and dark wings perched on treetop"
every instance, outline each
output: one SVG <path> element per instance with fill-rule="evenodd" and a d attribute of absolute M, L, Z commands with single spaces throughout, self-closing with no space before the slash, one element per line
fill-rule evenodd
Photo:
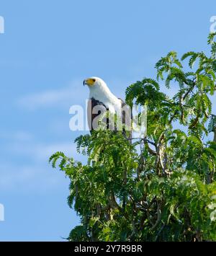
<path fill-rule="evenodd" d="M 99 77 L 93 76 L 84 80 L 84 85 L 89 87 L 89 103 L 87 107 L 89 130 L 97 130 L 99 116 L 102 112 L 109 112 L 109 118 L 106 117 L 107 129 L 117 131 L 121 127 L 123 134 L 131 131 L 132 113 L 123 100 L 117 98 L 107 87 L 107 84 Z M 116 115 L 118 122 L 123 125 L 112 125 L 111 116 Z"/>

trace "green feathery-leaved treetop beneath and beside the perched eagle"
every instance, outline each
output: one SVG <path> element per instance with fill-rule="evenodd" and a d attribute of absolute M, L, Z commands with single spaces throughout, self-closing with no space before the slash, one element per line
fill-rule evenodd
<path fill-rule="evenodd" d="M 172 51 L 156 63 L 157 79 L 179 88 L 174 97 L 154 79 L 127 87 L 127 104 L 148 108 L 145 138 L 97 131 L 76 138 L 87 164 L 50 157 L 71 179 L 68 205 L 81 218 L 68 240 L 216 241 L 215 35 L 210 56 Z"/>

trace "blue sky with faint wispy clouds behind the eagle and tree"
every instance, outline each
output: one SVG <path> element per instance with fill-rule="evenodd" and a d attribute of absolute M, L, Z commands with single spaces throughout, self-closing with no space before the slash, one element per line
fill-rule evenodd
<path fill-rule="evenodd" d="M 78 224 L 48 157 L 85 160 L 68 127 L 69 107 L 88 97 L 82 81 L 100 76 L 124 97 L 168 51 L 207 50 L 215 15 L 213 0 L 0 0 L 0 241 L 62 241 Z"/>

